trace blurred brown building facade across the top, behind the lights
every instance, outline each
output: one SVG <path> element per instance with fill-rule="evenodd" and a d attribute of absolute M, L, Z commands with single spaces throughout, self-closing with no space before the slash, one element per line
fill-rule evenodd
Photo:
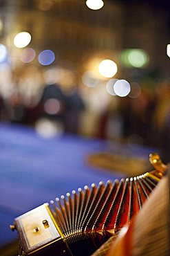
<path fill-rule="evenodd" d="M 94 11 L 79 0 L 1 0 L 0 39 L 10 48 L 14 66 L 21 65 L 19 49 L 12 44 L 14 35 L 28 31 L 30 46 L 37 53 L 50 48 L 56 53 L 56 64 L 68 63 L 78 72 L 84 71 L 92 58 L 101 57 L 118 63 L 118 75 L 134 74 L 136 71 L 120 63 L 120 52 L 142 48 L 149 54 L 147 72 L 166 76 L 169 14 L 146 1 L 135 2 L 107 0 L 102 9 Z M 36 65 L 36 60 L 32 64 Z"/>

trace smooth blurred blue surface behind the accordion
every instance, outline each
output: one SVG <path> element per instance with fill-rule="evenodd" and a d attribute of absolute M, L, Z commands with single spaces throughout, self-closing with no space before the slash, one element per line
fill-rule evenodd
<path fill-rule="evenodd" d="M 47 140 L 33 128 L 0 123 L 0 246 L 17 238 L 9 226 L 20 214 L 84 185 L 123 177 L 87 164 L 88 154 L 106 150 L 137 152 L 118 143 L 71 135 Z M 144 157 L 149 152 L 140 149 Z"/>

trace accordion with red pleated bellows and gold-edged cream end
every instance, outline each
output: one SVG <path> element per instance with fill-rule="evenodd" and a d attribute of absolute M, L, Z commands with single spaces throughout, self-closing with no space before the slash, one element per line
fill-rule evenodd
<path fill-rule="evenodd" d="M 14 219 L 19 255 L 92 255 L 131 221 L 164 176 L 167 166 L 158 154 L 149 160 L 151 172 L 73 190 Z"/>

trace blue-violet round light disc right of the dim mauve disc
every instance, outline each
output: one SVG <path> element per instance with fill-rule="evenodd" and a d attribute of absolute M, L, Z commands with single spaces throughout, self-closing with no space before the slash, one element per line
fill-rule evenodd
<path fill-rule="evenodd" d="M 52 50 L 44 50 L 39 53 L 38 60 L 39 63 L 43 66 L 50 65 L 55 60 L 55 54 Z"/>

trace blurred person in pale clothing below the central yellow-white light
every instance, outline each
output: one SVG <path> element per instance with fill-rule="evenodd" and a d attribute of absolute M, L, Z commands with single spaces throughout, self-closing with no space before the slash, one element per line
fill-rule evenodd
<path fill-rule="evenodd" d="M 97 86 L 92 87 L 83 84 L 82 97 L 85 102 L 85 110 L 81 116 L 81 134 L 93 138 L 106 137 L 107 132 L 110 132 L 110 129 L 106 127 L 108 111 L 116 108 L 116 98 L 113 100 L 113 96 L 107 93 L 105 82 L 100 82 Z M 110 102 L 112 103 L 110 104 Z"/>

